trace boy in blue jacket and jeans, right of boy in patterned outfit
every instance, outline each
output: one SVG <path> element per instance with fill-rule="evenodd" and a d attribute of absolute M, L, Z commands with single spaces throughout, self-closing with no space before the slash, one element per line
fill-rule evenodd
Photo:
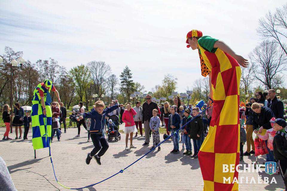
<path fill-rule="evenodd" d="M 175 111 L 177 107 L 175 105 L 170 107 L 171 114 L 168 116 L 168 131 L 174 133 L 180 128 L 180 116 Z M 170 153 L 179 153 L 179 141 L 178 132 L 172 135 L 173 150 Z"/>

